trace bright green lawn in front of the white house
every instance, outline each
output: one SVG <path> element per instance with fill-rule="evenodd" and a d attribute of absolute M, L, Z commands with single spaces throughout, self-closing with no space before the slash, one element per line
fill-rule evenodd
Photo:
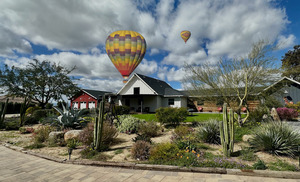
<path fill-rule="evenodd" d="M 155 114 L 133 114 L 132 116 L 144 119 L 146 121 L 156 121 Z M 222 120 L 222 113 L 194 113 L 193 115 L 189 115 L 184 122 L 205 122 L 209 119 L 217 119 L 219 121 Z"/>

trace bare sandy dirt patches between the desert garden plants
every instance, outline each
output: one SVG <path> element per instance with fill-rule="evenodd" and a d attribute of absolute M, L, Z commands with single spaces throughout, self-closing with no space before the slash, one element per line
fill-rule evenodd
<path fill-rule="evenodd" d="M 31 126 L 32 127 L 32 126 Z M 38 125 L 34 125 L 34 128 L 37 128 Z M 172 130 L 168 130 L 163 132 L 160 136 L 152 138 L 153 143 L 163 143 L 171 141 Z M 104 154 L 111 156 L 108 161 L 112 162 L 137 162 L 131 158 L 130 149 L 133 144 L 132 139 L 136 137 L 136 134 L 125 134 L 119 133 L 117 137 L 117 141 L 110 147 L 109 151 L 103 152 Z M 32 144 L 32 134 L 20 134 L 19 131 L 0 131 L 0 142 L 10 143 L 19 147 L 25 147 Z M 208 144 L 207 144 L 208 145 Z M 244 142 L 235 143 L 234 150 L 241 150 L 242 146 L 246 146 L 247 144 Z M 220 145 L 209 145 L 212 150 L 208 150 L 209 152 L 215 155 L 222 155 L 221 146 Z M 80 160 L 80 151 L 83 147 L 78 147 L 74 149 L 71 155 L 73 160 Z M 68 159 L 68 148 L 67 147 L 44 147 L 41 149 L 33 149 L 32 152 L 40 153 L 43 155 L 53 156 L 59 159 Z M 257 157 L 266 163 L 276 162 L 278 159 L 282 161 L 289 162 L 290 164 L 294 164 L 296 166 L 299 165 L 298 158 L 292 159 L 289 157 L 278 157 L 274 155 L 270 155 L 264 152 L 256 152 Z M 237 157 L 233 157 L 236 161 L 241 161 Z M 255 161 L 241 161 L 248 165 L 253 165 Z"/>

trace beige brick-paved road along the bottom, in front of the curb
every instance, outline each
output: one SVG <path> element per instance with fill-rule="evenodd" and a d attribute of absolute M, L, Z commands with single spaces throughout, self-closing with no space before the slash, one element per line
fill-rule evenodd
<path fill-rule="evenodd" d="M 190 172 L 162 172 L 61 164 L 0 146 L 0 181 L 161 181 L 161 182 L 290 182 L 292 179 L 247 177 Z"/>

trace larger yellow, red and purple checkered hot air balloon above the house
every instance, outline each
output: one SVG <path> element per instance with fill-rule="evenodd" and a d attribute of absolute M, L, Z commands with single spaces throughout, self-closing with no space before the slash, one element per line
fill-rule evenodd
<path fill-rule="evenodd" d="M 127 82 L 129 75 L 140 64 L 146 53 L 145 38 L 129 30 L 111 33 L 106 39 L 106 53 Z"/>

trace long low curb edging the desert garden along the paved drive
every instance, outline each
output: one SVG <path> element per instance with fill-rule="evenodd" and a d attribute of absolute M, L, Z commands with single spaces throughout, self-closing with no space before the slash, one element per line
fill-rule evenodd
<path fill-rule="evenodd" d="M 242 170 L 242 169 L 225 169 L 225 168 L 201 168 L 201 167 L 179 167 L 169 165 L 151 165 L 151 164 L 136 164 L 136 163 L 122 163 L 122 162 L 102 162 L 102 161 L 90 161 L 90 160 L 67 160 L 50 157 L 31 151 L 26 151 L 22 147 L 10 145 L 8 143 L 0 143 L 2 146 L 22 152 L 24 154 L 36 156 L 53 162 L 74 164 L 74 165 L 89 165 L 99 167 L 116 167 L 127 168 L 137 170 L 154 170 L 154 171 L 173 171 L 173 172 L 194 172 L 194 173 L 214 173 L 214 174 L 229 174 L 229 175 L 241 175 L 241 176 L 257 176 L 257 177 L 270 177 L 270 178 L 285 178 L 285 179 L 300 179 L 299 172 L 289 171 L 266 171 L 266 170 Z"/>

